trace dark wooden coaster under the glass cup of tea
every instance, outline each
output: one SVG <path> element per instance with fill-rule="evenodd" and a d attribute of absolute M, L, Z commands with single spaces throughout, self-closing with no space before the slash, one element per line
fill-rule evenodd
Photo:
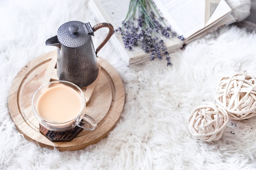
<path fill-rule="evenodd" d="M 78 126 L 72 128 L 71 130 L 65 132 L 55 132 L 48 130 L 42 125 L 39 124 L 40 133 L 42 133 L 47 139 L 52 142 L 63 142 L 63 141 L 72 141 L 83 129 Z"/>

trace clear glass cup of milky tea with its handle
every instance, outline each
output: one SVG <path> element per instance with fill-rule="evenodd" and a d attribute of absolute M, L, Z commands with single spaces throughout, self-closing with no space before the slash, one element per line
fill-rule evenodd
<path fill-rule="evenodd" d="M 85 115 L 85 96 L 81 88 L 67 81 L 49 82 L 32 99 L 34 115 L 48 130 L 63 132 L 79 126 L 94 130 L 96 121 Z"/>

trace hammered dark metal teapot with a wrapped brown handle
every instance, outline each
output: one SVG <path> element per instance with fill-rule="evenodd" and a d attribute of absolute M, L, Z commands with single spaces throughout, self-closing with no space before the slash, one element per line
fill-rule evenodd
<path fill-rule="evenodd" d="M 92 35 L 103 27 L 109 28 L 108 35 L 94 51 Z M 113 26 L 109 23 L 99 23 L 92 27 L 89 22 L 70 21 L 61 25 L 57 35 L 45 42 L 47 46 L 58 48 L 56 66 L 58 78 L 79 87 L 94 82 L 99 74 L 97 53 L 113 33 Z"/>

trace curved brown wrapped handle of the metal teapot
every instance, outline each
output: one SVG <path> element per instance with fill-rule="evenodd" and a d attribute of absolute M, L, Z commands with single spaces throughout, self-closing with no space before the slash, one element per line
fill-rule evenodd
<path fill-rule="evenodd" d="M 109 28 L 109 31 L 108 31 L 108 35 L 106 36 L 106 38 L 103 40 L 103 42 L 101 42 L 101 44 L 99 44 L 98 48 L 96 49 L 96 51 L 95 51 L 96 55 L 100 51 L 100 49 L 108 42 L 108 40 L 114 33 L 114 27 L 112 26 L 112 24 L 106 23 L 106 22 L 96 24 L 94 27 L 92 27 L 92 29 L 95 32 L 98 29 L 103 28 L 103 27 Z"/>

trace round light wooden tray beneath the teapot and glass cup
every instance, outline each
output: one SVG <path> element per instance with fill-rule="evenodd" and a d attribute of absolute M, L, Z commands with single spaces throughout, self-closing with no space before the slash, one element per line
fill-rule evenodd
<path fill-rule="evenodd" d="M 121 77 L 115 68 L 99 57 L 99 79 L 85 109 L 86 114 L 97 121 L 97 128 L 93 131 L 82 130 L 69 142 L 52 142 L 39 132 L 39 123 L 34 116 L 31 102 L 34 93 L 45 81 L 45 73 L 53 58 L 56 58 L 56 52 L 41 55 L 16 75 L 9 92 L 11 119 L 27 140 L 42 147 L 61 151 L 79 150 L 97 143 L 115 127 L 124 109 L 125 92 Z"/>

